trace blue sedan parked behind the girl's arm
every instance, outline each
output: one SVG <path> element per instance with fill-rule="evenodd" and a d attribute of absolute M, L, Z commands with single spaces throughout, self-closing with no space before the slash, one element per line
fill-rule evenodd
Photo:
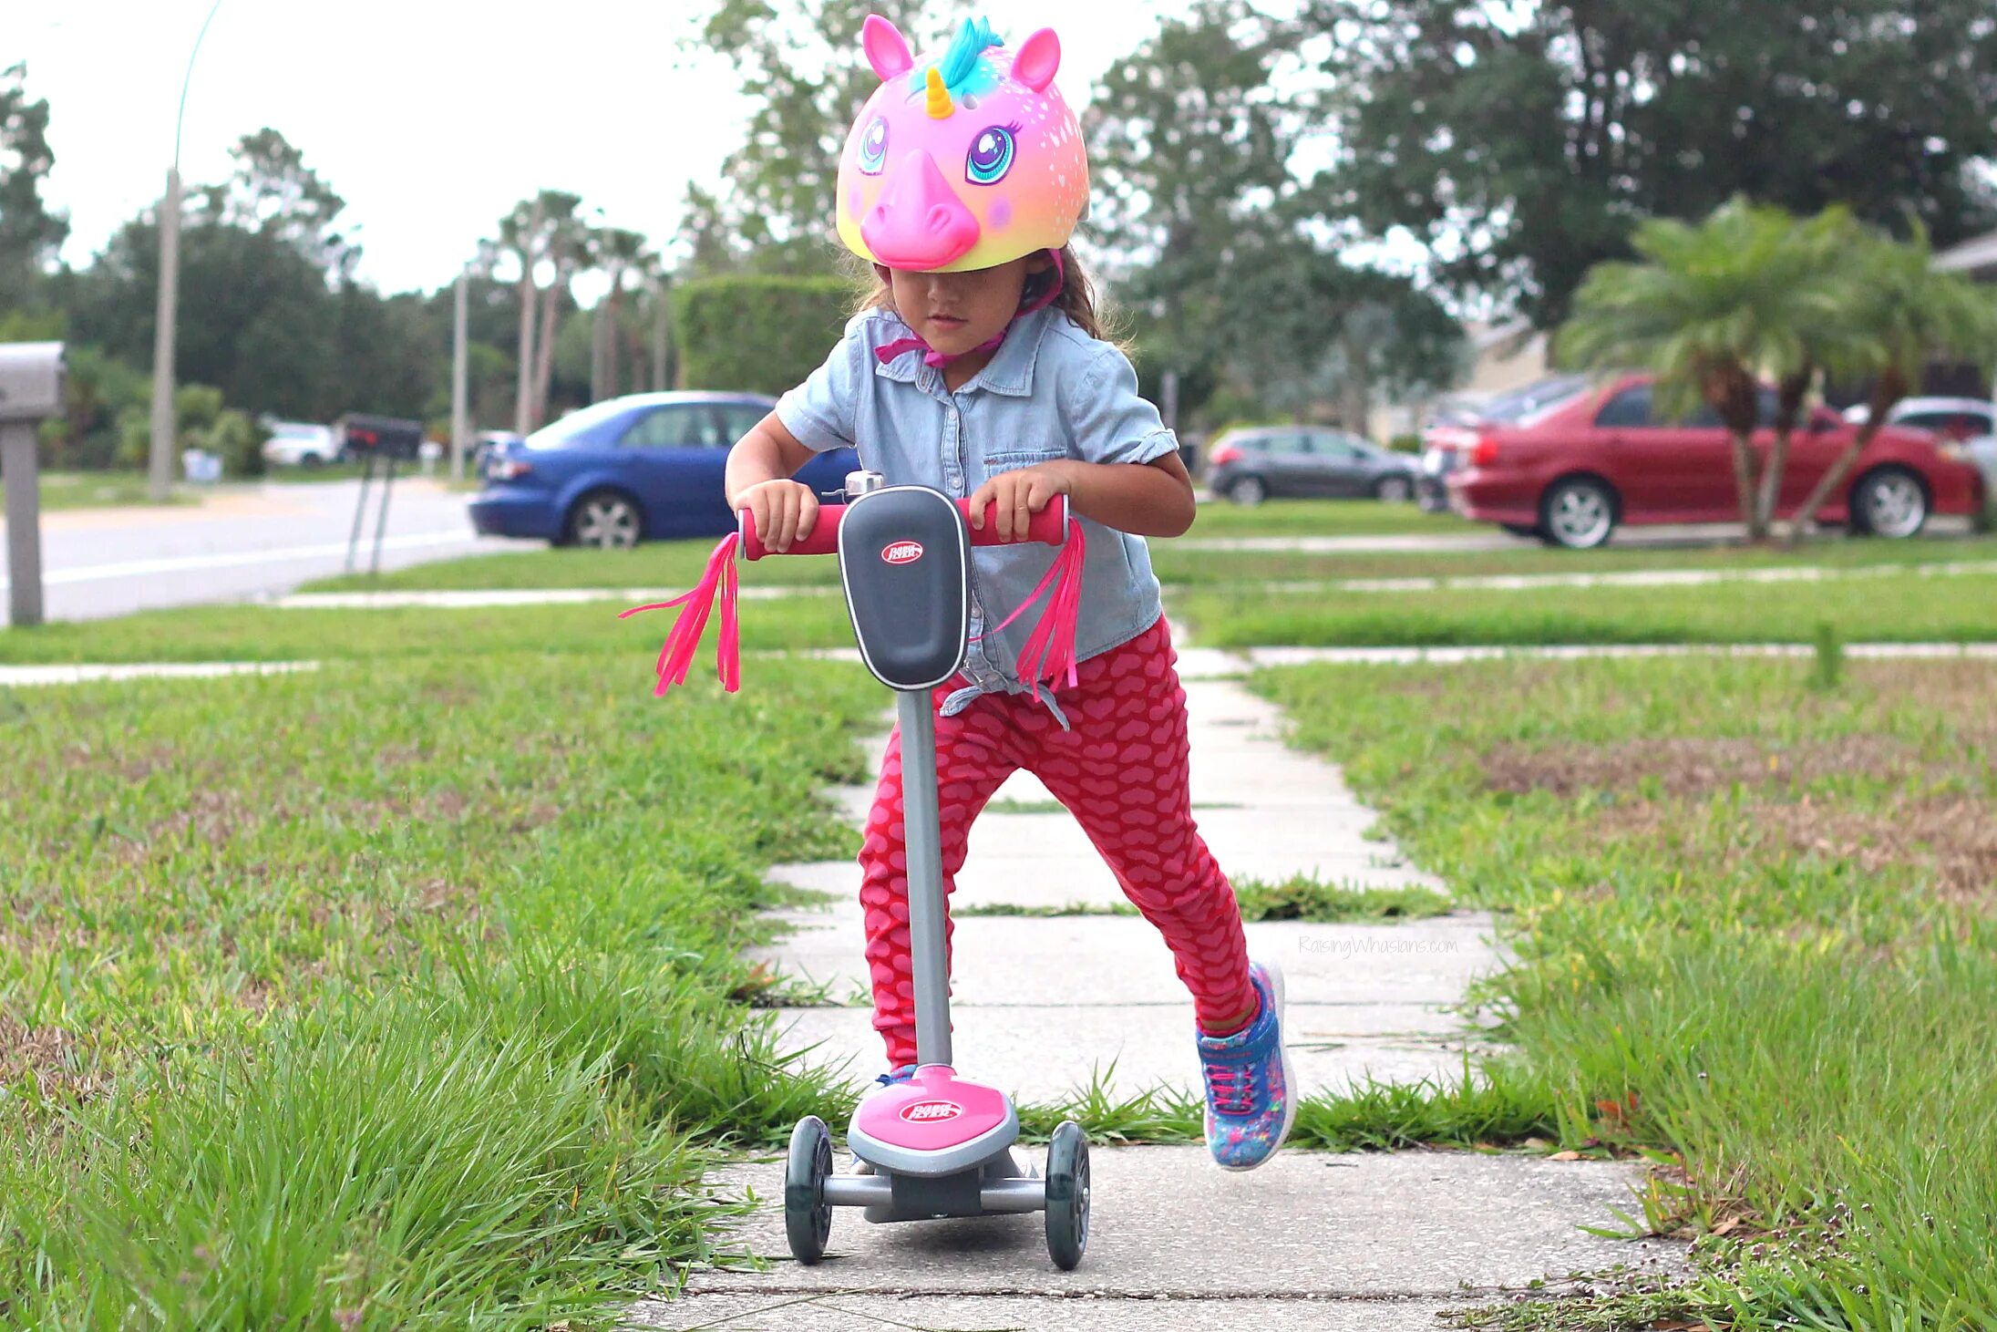
<path fill-rule="evenodd" d="M 729 447 L 775 405 L 757 393 L 631 393 L 583 407 L 493 447 L 471 525 L 597 547 L 735 531 L 721 487 Z M 797 479 L 835 495 L 855 467 L 853 449 L 835 449 Z"/>

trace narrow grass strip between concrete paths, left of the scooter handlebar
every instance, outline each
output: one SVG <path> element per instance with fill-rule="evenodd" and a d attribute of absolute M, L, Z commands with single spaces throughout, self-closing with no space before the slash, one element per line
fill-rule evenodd
<path fill-rule="evenodd" d="M 435 653 L 595 655 L 621 681 L 649 681 L 677 611 L 617 619 L 615 603 L 489 609 L 397 607 L 381 611 L 282 611 L 214 605 L 144 611 L 116 621 L 0 629 L 0 663 L 66 661 L 383 661 Z M 713 639 L 689 679 L 713 679 Z M 845 603 L 835 597 L 745 601 L 745 653 L 797 647 L 851 647 Z M 605 655 L 607 653 L 607 655 Z M 743 665 L 745 689 L 761 663 Z"/>

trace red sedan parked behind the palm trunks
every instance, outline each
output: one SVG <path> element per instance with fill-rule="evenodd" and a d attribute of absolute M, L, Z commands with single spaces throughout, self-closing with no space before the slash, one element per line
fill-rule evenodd
<path fill-rule="evenodd" d="M 1685 421 L 1652 409 L 1650 375 L 1622 375 L 1504 423 L 1438 427 L 1468 463 L 1448 473 L 1450 507 L 1552 545 L 1602 545 L 1618 523 L 1739 521 L 1733 445 L 1709 407 Z M 1775 389 L 1761 389 L 1753 447 L 1767 457 Z M 1793 513 L 1857 433 L 1827 407 L 1813 407 L 1789 439 L 1775 515 Z M 1442 439 L 1450 435 L 1450 439 Z M 1883 427 L 1849 483 L 1819 509 L 1825 523 L 1851 523 L 1879 537 L 1911 537 L 1931 513 L 1977 513 L 1983 475 L 1961 445 L 1925 429 Z"/>

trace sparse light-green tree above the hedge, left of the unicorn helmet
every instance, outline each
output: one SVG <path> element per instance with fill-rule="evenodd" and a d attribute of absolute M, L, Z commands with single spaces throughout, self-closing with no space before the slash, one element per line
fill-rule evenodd
<path fill-rule="evenodd" d="M 755 110 L 727 160 L 731 192 L 689 198 L 695 272 L 825 272 L 839 152 L 881 84 L 861 54 L 861 24 L 883 14 L 921 46 L 943 12 L 935 0 L 719 0 L 709 10 L 689 46 L 729 60 Z"/>

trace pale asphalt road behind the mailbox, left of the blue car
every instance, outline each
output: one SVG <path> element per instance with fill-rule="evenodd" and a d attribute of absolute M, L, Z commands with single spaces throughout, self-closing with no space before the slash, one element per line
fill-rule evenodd
<path fill-rule="evenodd" d="M 377 497 L 367 495 L 361 563 Z M 48 619 L 98 619 L 164 605 L 244 601 L 339 573 L 359 481 L 230 487 L 178 507 L 74 509 L 42 515 Z M 395 569 L 519 543 L 477 537 L 465 495 L 421 477 L 395 481 L 381 567 Z M 0 525 L 4 529 L 4 525 Z M 4 585 L 6 579 L 0 579 Z M 0 603 L 4 605 L 4 603 Z"/>

